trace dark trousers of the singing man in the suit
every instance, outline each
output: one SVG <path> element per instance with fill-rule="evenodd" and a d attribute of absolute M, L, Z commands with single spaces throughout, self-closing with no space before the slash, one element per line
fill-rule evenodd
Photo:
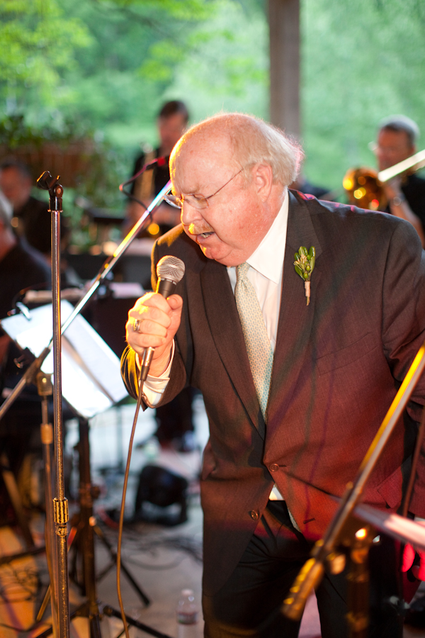
<path fill-rule="evenodd" d="M 370 551 L 369 638 L 401 638 L 395 546 L 382 542 Z M 286 619 L 280 607 L 311 544 L 297 532 L 283 501 L 269 501 L 242 559 L 224 587 L 203 596 L 205 638 L 296 638 L 300 623 Z M 325 574 L 317 588 L 322 638 L 345 638 L 346 573 Z"/>

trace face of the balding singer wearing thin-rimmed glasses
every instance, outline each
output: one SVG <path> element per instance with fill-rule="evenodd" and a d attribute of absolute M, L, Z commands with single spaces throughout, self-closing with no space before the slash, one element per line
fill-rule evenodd
<path fill-rule="evenodd" d="M 229 142 L 211 133 L 198 133 L 188 140 L 177 150 L 171 166 L 173 192 L 183 195 L 181 223 L 186 235 L 205 257 L 225 266 L 246 261 L 271 225 L 256 180 L 246 184 L 244 175 L 237 174 L 242 168 Z M 218 189 L 207 208 L 195 208 L 184 201 L 184 196 L 209 197 Z"/>

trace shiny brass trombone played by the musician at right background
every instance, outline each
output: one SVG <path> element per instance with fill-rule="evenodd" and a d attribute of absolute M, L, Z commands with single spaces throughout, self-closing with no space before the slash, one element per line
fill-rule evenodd
<path fill-rule="evenodd" d="M 368 208 L 370 211 L 385 211 L 388 203 L 383 189 L 385 181 L 389 181 L 412 167 L 414 167 L 414 171 L 417 171 L 424 166 L 425 150 L 421 150 L 380 172 L 365 167 L 349 169 L 342 181 L 342 186 L 344 186 L 349 203 L 353 206 Z"/>

